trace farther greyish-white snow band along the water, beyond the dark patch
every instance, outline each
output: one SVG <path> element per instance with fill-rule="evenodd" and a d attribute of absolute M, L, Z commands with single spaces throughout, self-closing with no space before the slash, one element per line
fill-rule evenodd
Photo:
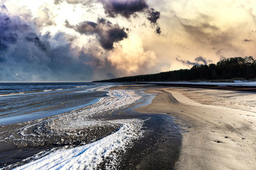
<path fill-rule="evenodd" d="M 90 90 L 106 91 L 112 86 L 96 87 Z M 135 103 L 141 96 L 132 90 L 108 90 L 108 96 L 102 97 L 96 103 L 85 108 L 63 113 L 51 118 L 42 118 L 17 129 L 20 136 L 10 136 L 11 140 L 26 140 L 30 136 L 39 137 L 45 135 L 45 127 L 54 134 L 60 134 L 64 130 L 81 129 L 92 125 L 104 125 L 106 123 L 93 120 L 93 116 L 106 115 L 113 111 L 125 108 Z M 31 129 L 36 129 L 31 131 Z M 36 131 L 36 133 L 35 133 Z M 7 138 L 6 138 L 7 139 Z M 31 139 L 30 139 L 31 140 Z M 1 140 L 0 140 L 1 141 Z"/>

